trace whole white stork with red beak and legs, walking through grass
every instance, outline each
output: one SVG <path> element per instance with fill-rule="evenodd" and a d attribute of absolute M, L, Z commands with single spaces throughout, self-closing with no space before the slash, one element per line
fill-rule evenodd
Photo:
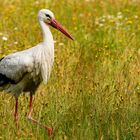
<path fill-rule="evenodd" d="M 12 94 L 16 99 L 15 121 L 18 120 L 18 97 L 22 92 L 30 92 L 28 119 L 41 125 L 32 118 L 33 95 L 39 84 L 47 83 L 54 61 L 54 40 L 49 26 L 60 30 L 73 40 L 72 36 L 58 23 L 48 9 L 38 13 L 38 21 L 43 32 L 43 42 L 24 51 L 10 54 L 0 60 L 0 90 Z M 44 125 L 42 125 L 44 126 Z M 52 129 L 44 126 L 51 133 Z"/>

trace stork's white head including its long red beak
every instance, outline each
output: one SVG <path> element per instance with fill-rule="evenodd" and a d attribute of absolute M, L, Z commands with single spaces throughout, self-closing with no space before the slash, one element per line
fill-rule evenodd
<path fill-rule="evenodd" d="M 48 9 L 42 9 L 39 11 L 38 18 L 40 21 L 43 21 L 47 25 L 52 26 L 53 28 L 61 31 L 67 37 L 73 40 L 70 33 L 55 19 L 53 12 Z"/>

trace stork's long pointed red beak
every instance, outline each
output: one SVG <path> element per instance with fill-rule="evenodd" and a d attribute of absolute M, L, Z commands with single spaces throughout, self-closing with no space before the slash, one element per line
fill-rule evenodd
<path fill-rule="evenodd" d="M 70 33 L 55 19 L 51 19 L 50 24 L 52 27 L 54 27 L 55 29 L 61 31 L 64 35 L 66 35 L 68 38 L 72 39 L 72 36 L 70 35 Z"/>

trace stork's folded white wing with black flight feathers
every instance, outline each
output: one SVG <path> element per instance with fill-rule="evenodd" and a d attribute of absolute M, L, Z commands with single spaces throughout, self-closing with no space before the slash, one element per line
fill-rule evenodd
<path fill-rule="evenodd" d="M 18 83 L 23 76 L 33 70 L 33 57 L 24 52 L 6 56 L 0 60 L 0 86 Z"/>

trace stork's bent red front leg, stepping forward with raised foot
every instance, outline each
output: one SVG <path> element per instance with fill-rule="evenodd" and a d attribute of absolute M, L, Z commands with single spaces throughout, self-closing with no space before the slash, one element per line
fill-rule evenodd
<path fill-rule="evenodd" d="M 38 125 L 40 125 L 41 127 L 47 129 L 47 130 L 48 130 L 48 135 L 49 135 L 49 136 L 52 135 L 52 131 L 53 131 L 52 128 L 50 128 L 50 127 L 48 127 L 48 126 L 46 126 L 46 125 L 43 125 L 43 124 L 41 124 L 39 121 L 37 121 L 37 120 L 35 120 L 35 119 L 32 118 L 32 111 L 33 111 L 33 109 L 32 109 L 32 103 L 33 103 L 33 96 L 32 96 L 32 94 L 30 94 L 30 103 L 29 103 L 29 114 L 28 114 L 28 119 L 29 119 L 30 121 L 32 121 L 34 124 L 38 124 Z"/>

